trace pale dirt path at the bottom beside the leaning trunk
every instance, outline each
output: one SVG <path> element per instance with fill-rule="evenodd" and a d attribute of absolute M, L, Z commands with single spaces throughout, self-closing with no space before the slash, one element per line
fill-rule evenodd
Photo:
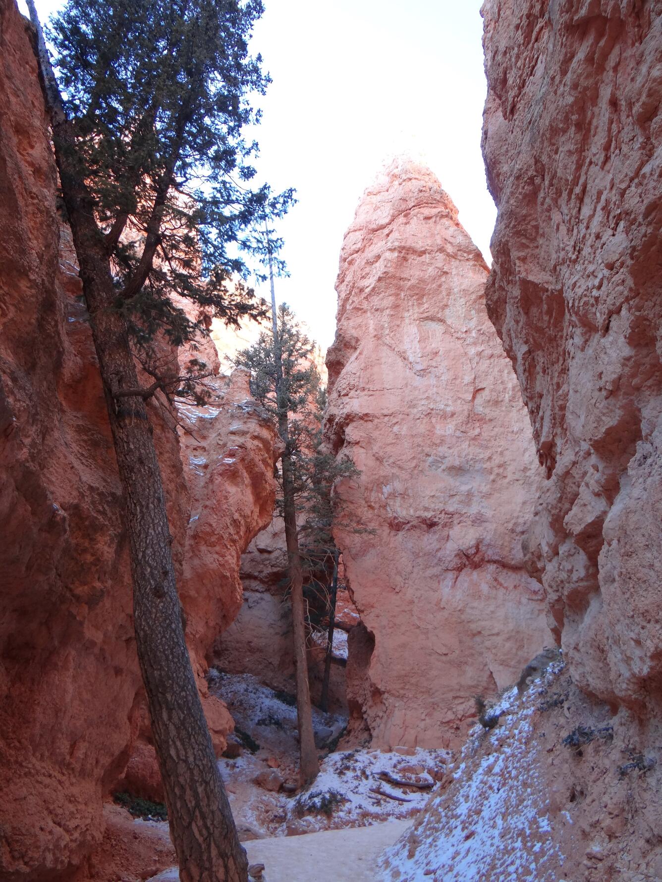
<path fill-rule="evenodd" d="M 410 826 L 387 821 L 366 827 L 322 830 L 244 842 L 249 863 L 264 863 L 265 882 L 375 882 L 377 856 Z M 175 870 L 150 882 L 178 882 Z"/>

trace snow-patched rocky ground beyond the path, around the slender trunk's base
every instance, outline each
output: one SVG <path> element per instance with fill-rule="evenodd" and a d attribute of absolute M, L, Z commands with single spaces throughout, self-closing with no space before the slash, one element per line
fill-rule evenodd
<path fill-rule="evenodd" d="M 297 784 L 297 708 L 293 697 L 269 689 L 250 674 L 213 671 L 210 690 L 225 701 L 243 744 L 236 759 L 219 768 L 240 838 L 285 836 L 390 818 L 411 818 L 425 805 L 445 773 L 448 751 L 340 751 L 322 759 L 312 787 L 300 793 L 267 791 L 260 774 L 277 774 L 291 791 Z M 333 744 L 346 718 L 312 709 L 318 743 Z M 389 779 L 390 780 L 385 780 Z M 395 782 L 394 782 L 395 781 Z"/>

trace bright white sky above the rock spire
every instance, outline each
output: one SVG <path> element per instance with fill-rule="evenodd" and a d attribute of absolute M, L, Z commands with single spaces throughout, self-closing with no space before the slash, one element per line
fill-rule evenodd
<path fill-rule="evenodd" d="M 21 6 L 23 4 L 20 4 Z M 58 0 L 36 0 L 42 20 Z M 293 186 L 282 222 L 286 301 L 327 347 L 342 235 L 382 162 L 409 153 L 440 178 L 490 262 L 480 0 L 265 0 L 252 43 L 274 80 L 262 101 L 260 178 Z M 268 290 L 259 292 L 268 298 Z"/>

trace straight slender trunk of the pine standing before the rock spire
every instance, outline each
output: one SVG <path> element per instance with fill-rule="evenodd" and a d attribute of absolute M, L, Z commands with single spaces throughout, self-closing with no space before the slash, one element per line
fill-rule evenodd
<path fill-rule="evenodd" d="M 267 232 L 268 237 L 268 232 Z M 297 509 L 294 504 L 294 476 L 290 456 L 290 428 L 287 404 L 282 389 L 282 351 L 276 320 L 274 271 L 269 250 L 269 282 L 271 285 L 271 319 L 274 334 L 275 395 L 278 409 L 278 434 L 284 451 L 282 466 L 282 507 L 285 521 L 285 544 L 288 549 L 288 575 L 290 577 L 290 602 L 292 606 L 292 637 L 297 679 L 297 725 L 299 730 L 299 783 L 310 784 L 320 772 L 320 760 L 315 747 L 312 729 L 311 690 L 308 683 L 308 658 L 305 651 L 304 572 L 301 566 L 297 530 Z"/>

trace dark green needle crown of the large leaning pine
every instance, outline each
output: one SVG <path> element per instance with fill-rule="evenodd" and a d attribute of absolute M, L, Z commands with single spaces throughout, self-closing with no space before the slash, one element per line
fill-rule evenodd
<path fill-rule="evenodd" d="M 207 333 L 205 315 L 264 314 L 248 284 L 261 278 L 255 231 L 293 191 L 254 184 L 258 145 L 244 135 L 269 83 L 248 49 L 262 11 L 260 0 L 68 0 L 51 21 L 71 159 L 139 343 L 161 332 L 181 345 Z"/>

